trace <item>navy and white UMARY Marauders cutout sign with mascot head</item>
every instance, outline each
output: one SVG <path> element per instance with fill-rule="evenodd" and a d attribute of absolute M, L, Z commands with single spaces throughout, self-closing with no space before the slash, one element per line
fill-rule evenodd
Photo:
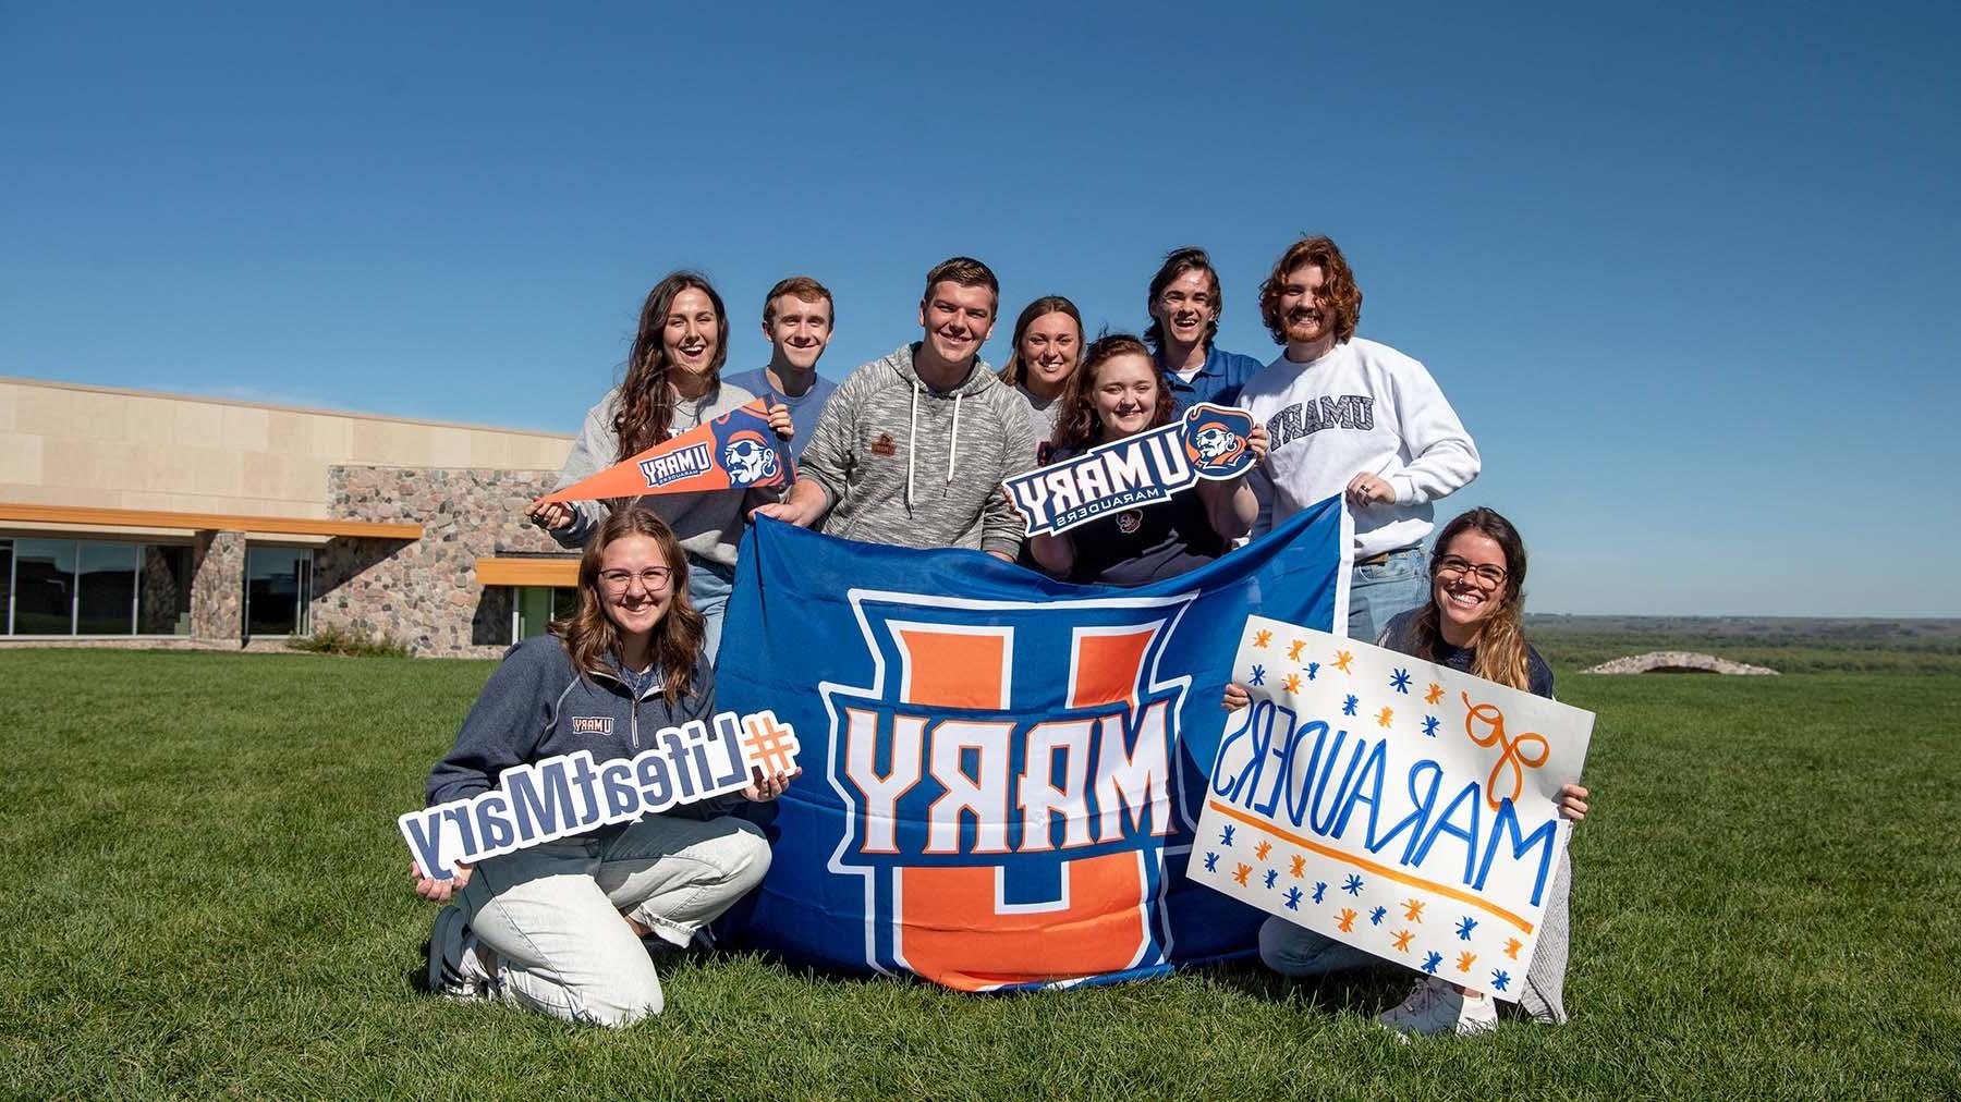
<path fill-rule="evenodd" d="M 1237 478 L 1253 465 L 1253 416 L 1200 402 L 1169 426 L 1128 435 L 1002 482 L 1028 535 L 1069 531 L 1110 510 L 1163 502 L 1200 478 Z"/>

